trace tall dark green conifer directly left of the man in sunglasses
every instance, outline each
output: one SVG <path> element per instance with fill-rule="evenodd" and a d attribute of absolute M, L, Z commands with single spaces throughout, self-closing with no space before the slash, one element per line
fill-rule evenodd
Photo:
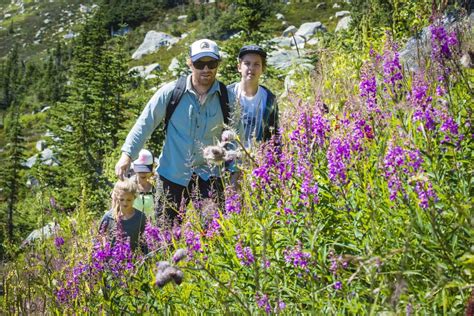
<path fill-rule="evenodd" d="M 51 129 L 66 187 L 59 188 L 66 206 L 74 207 L 84 190 L 86 205 L 103 210 L 108 202 L 104 159 L 118 143 L 128 83 L 125 54 L 110 46 L 100 11 L 85 24 L 71 64 L 68 97 L 52 111 Z M 84 187 L 81 187 L 81 183 Z"/>

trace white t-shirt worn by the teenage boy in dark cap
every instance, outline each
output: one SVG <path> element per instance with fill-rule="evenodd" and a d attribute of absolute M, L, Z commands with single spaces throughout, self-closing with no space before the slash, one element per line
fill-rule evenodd
<path fill-rule="evenodd" d="M 247 97 L 242 95 L 240 85 L 236 84 L 235 95 L 238 97 L 242 109 L 244 146 L 250 148 L 262 126 L 263 110 L 267 102 L 267 92 L 259 86 L 257 93 L 253 97 Z"/>

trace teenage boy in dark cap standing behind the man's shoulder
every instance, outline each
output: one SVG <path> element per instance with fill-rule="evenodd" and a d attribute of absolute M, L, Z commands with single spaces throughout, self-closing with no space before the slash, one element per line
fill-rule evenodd
<path fill-rule="evenodd" d="M 267 53 L 257 45 L 246 45 L 240 49 L 237 69 L 240 82 L 227 86 L 229 93 L 237 98 L 242 113 L 241 136 L 246 148 L 267 141 L 278 132 L 278 106 L 275 95 L 259 84 L 265 71 Z"/>

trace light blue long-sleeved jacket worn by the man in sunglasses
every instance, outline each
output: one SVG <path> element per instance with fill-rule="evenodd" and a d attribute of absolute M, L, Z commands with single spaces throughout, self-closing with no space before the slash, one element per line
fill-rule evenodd
<path fill-rule="evenodd" d="M 164 123 L 166 106 L 177 81 L 161 87 L 148 101 L 132 130 L 128 133 L 122 152 L 136 159 L 145 141 L 159 124 Z M 207 164 L 203 149 L 221 139 L 224 116 L 220 105 L 219 83 L 216 80 L 208 91 L 203 105 L 192 89 L 191 75 L 186 80 L 184 92 L 168 124 L 157 172 L 166 179 L 187 186 L 193 173 L 203 180 L 220 176 L 220 168 Z M 229 99 L 235 99 L 229 95 Z"/>

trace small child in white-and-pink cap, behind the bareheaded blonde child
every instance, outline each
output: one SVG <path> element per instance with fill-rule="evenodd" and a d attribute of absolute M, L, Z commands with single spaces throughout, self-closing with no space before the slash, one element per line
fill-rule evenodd
<path fill-rule="evenodd" d="M 146 150 L 140 150 L 138 159 L 132 164 L 135 175 L 133 180 L 138 186 L 138 195 L 133 201 L 133 207 L 145 213 L 148 218 L 155 214 L 155 186 L 153 177 L 153 154 Z"/>

